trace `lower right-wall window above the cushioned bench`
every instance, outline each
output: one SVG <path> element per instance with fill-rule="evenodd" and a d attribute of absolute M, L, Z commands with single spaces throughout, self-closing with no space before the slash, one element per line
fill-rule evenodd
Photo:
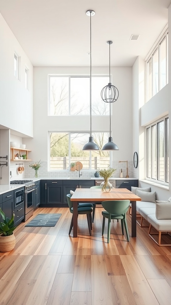
<path fill-rule="evenodd" d="M 169 183 L 169 118 L 146 128 L 147 178 Z"/>

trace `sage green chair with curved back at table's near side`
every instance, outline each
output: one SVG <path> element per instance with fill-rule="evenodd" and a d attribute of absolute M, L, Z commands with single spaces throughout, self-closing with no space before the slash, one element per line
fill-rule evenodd
<path fill-rule="evenodd" d="M 110 224 L 111 219 L 121 219 L 122 235 L 124 235 L 124 227 L 129 242 L 129 234 L 127 228 L 126 212 L 129 209 L 130 200 L 109 200 L 102 201 L 102 206 L 106 211 L 102 211 L 103 225 L 102 235 L 104 233 L 105 218 L 108 218 L 107 242 L 110 241 Z"/>

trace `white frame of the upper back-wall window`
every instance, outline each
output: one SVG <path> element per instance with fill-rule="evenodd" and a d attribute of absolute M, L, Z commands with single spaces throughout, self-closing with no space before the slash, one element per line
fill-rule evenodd
<path fill-rule="evenodd" d="M 51 117 L 52 115 L 50 114 L 50 78 L 51 77 L 69 77 L 69 79 L 71 79 L 72 77 L 88 77 L 89 78 L 89 82 L 90 82 L 90 75 L 89 74 L 48 74 L 48 117 Z M 109 78 L 109 75 L 108 74 L 93 74 L 92 75 L 92 78 L 93 77 L 108 77 Z M 111 82 L 112 82 L 112 75 L 110 75 L 110 78 L 111 78 Z M 70 96 L 70 93 L 71 93 L 71 90 L 70 90 L 70 80 L 69 80 L 69 87 L 68 87 L 68 115 L 67 116 L 76 116 L 76 115 L 79 115 L 79 114 L 71 114 L 71 96 Z M 106 85 L 108 84 L 108 81 L 106 81 Z M 89 101 L 90 103 L 90 101 Z M 111 105 L 111 114 L 112 114 L 112 105 Z M 89 116 L 89 114 L 81 114 L 80 116 Z M 109 116 L 110 114 L 92 114 L 92 116 Z M 54 116 L 55 117 L 55 116 Z M 56 116 L 57 117 L 57 116 Z"/>

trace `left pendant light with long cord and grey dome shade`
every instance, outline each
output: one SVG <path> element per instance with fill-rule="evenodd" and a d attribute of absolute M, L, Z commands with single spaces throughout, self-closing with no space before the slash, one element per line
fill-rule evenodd
<path fill-rule="evenodd" d="M 92 113 L 91 113 L 91 86 L 92 86 L 92 52 L 91 52 L 91 16 L 95 15 L 94 11 L 87 11 L 86 12 L 87 16 L 90 16 L 90 136 L 89 136 L 89 142 L 86 143 L 82 150 L 99 150 L 99 146 L 93 142 L 93 137 L 92 137 Z"/>

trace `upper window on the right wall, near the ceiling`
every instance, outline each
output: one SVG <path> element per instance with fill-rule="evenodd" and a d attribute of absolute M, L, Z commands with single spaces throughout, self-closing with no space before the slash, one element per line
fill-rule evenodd
<path fill-rule="evenodd" d="M 147 101 L 168 84 L 168 31 L 146 61 Z"/>

